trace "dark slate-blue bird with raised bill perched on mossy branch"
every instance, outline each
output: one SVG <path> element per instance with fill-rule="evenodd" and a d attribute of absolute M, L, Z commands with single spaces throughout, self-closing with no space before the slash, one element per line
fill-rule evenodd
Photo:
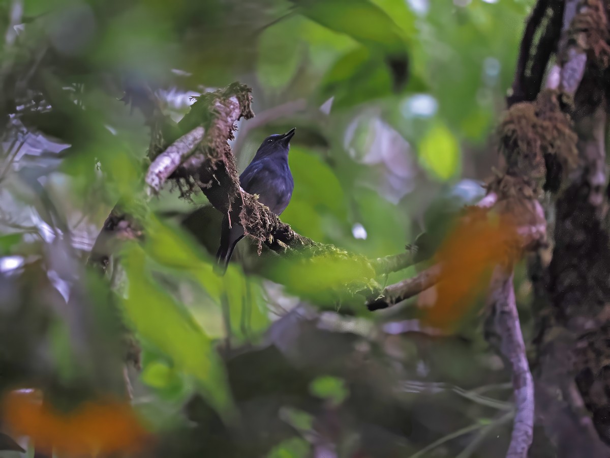
<path fill-rule="evenodd" d="M 258 194 L 259 202 L 268 206 L 276 215 L 288 206 L 295 187 L 288 166 L 290 139 L 295 130 L 293 128 L 285 134 L 268 136 L 239 177 L 242 189 L 249 194 Z M 235 245 L 244 236 L 242 225 L 233 221 L 231 223 L 232 227 L 229 228 L 229 216 L 224 215 L 220 248 L 216 253 L 217 272 L 221 275 L 226 271 Z"/>

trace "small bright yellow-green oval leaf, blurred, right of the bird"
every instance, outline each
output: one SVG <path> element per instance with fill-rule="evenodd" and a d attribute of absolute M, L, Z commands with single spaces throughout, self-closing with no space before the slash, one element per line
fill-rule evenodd
<path fill-rule="evenodd" d="M 460 166 L 458 140 L 443 123 L 437 122 L 420 140 L 419 156 L 422 165 L 440 181 L 456 175 Z"/>

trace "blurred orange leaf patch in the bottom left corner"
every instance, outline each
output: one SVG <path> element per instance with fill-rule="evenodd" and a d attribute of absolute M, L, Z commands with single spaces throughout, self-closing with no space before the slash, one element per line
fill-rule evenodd
<path fill-rule="evenodd" d="M 135 451 L 147 436 L 125 402 L 87 402 L 61 413 L 41 402 L 40 391 L 19 390 L 5 397 L 3 407 L 3 419 L 15 434 L 68 456 Z"/>

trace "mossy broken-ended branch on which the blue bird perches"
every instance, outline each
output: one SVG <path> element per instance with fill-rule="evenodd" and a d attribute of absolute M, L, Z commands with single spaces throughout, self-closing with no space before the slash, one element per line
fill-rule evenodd
<path fill-rule="evenodd" d="M 154 106 L 148 98 L 145 101 L 147 107 L 151 104 Z M 284 255 L 298 253 L 307 257 L 339 256 L 368 264 L 370 271 L 377 275 L 398 271 L 414 263 L 414 251 L 367 260 L 364 256 L 346 252 L 333 245 L 315 242 L 293 231 L 267 206 L 262 205 L 256 196 L 243 191 L 235 159 L 227 141 L 232 138 L 235 122 L 239 118 L 250 118 L 254 115 L 250 104 L 250 89 L 237 83 L 200 96 L 178 125 L 185 133 L 171 145 L 149 154 L 154 160 L 146 173 L 147 192 L 143 200 L 146 201 L 152 194 L 159 192 L 171 178 L 178 180 L 179 186 L 186 194 L 195 191 L 193 187 L 198 186 L 212 206 L 223 214 L 229 214 L 232 224 L 242 225 L 246 234 L 259 243 L 259 252 L 262 244 L 265 244 Z M 157 129 L 168 131 L 163 126 L 157 126 Z M 171 135 L 159 138 L 165 142 L 171 139 Z M 153 143 L 151 142 L 151 145 Z M 97 264 L 105 272 L 117 234 L 128 231 L 133 235 L 132 238 L 139 238 L 143 233 L 141 226 L 133 216 L 117 206 L 96 240 L 90 263 Z M 378 291 L 379 289 L 376 289 L 372 293 Z M 371 291 L 367 293 L 371 294 Z"/>

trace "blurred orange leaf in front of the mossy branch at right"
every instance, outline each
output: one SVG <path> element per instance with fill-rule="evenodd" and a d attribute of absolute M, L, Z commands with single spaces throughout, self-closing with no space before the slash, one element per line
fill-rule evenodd
<path fill-rule="evenodd" d="M 423 318 L 427 325 L 443 330 L 458 325 L 487 290 L 494 267 L 517 261 L 520 253 L 515 249 L 519 245 L 513 221 L 475 207 L 468 210 L 436 255 L 442 274 L 432 296 L 436 300 Z"/>

